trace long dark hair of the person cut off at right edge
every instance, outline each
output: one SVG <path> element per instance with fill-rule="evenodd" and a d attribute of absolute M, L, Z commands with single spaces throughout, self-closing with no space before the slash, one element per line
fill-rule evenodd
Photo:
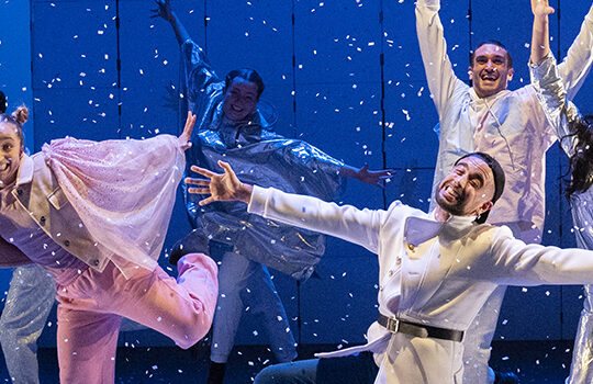
<path fill-rule="evenodd" d="M 569 122 L 571 135 L 577 143 L 574 153 L 569 158 L 569 170 L 564 174 L 564 194 L 567 199 L 574 192 L 585 192 L 593 184 L 593 115 L 579 116 Z"/>

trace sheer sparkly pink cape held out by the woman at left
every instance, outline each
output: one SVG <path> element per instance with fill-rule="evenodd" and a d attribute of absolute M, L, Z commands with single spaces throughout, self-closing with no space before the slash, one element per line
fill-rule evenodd
<path fill-rule="evenodd" d="M 91 142 L 66 137 L 45 144 L 42 150 L 101 252 L 111 260 L 120 257 L 153 270 L 186 166 L 178 138 Z"/>

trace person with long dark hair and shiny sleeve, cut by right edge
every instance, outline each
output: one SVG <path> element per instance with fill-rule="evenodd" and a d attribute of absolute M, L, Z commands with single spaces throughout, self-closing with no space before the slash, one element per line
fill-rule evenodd
<path fill-rule="evenodd" d="M 532 42 L 532 83 L 546 116 L 556 128 L 569 156 L 566 194 L 572 208 L 577 245 L 593 249 L 593 126 L 567 99 L 562 78 L 550 52 L 548 15 L 553 12 L 547 0 L 532 0 L 534 41 Z M 574 339 L 572 364 L 567 384 L 593 382 L 593 285 L 585 285 L 583 310 Z"/>

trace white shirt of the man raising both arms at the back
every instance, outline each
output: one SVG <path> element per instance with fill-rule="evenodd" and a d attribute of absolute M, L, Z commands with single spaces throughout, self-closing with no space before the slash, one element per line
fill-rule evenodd
<path fill-rule="evenodd" d="M 511 224 L 527 242 L 541 241 L 545 218 L 546 150 L 556 140 L 532 86 L 478 98 L 454 72 L 447 56 L 438 0 L 416 2 L 416 30 L 428 88 L 440 122 L 433 191 L 462 155 L 484 151 L 506 174 L 506 187 L 489 223 Z M 593 7 L 559 66 L 569 99 L 593 61 Z M 434 207 L 434 202 L 433 206 Z"/>

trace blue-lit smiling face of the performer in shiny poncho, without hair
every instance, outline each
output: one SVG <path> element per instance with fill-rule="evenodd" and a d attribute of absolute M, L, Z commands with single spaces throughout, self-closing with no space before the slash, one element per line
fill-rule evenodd
<path fill-rule="evenodd" d="M 236 77 L 225 89 L 223 113 L 235 122 L 245 120 L 256 111 L 258 100 L 257 84 Z"/>

